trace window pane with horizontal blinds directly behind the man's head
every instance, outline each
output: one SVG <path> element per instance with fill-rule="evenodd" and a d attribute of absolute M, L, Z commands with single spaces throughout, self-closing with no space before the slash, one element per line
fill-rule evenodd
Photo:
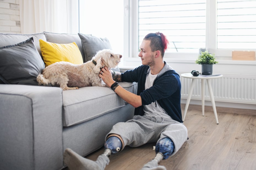
<path fill-rule="evenodd" d="M 139 44 L 159 31 L 170 41 L 168 52 L 198 52 L 205 48 L 205 26 L 205 0 L 139 0 Z"/>

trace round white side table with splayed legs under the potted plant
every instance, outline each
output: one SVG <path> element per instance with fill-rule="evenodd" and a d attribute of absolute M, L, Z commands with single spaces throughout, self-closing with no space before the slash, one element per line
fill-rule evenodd
<path fill-rule="evenodd" d="M 185 106 L 185 111 L 184 111 L 184 116 L 183 116 L 183 121 L 185 120 L 186 114 L 187 114 L 187 109 L 189 107 L 189 102 L 192 96 L 192 92 L 195 86 L 195 80 L 196 79 L 201 79 L 201 97 L 202 97 L 202 115 L 205 115 L 205 80 L 207 81 L 207 85 L 208 85 L 208 89 L 209 89 L 209 94 L 210 94 L 210 98 L 211 98 L 211 103 L 213 105 L 213 112 L 214 112 L 214 116 L 216 119 L 217 124 L 219 124 L 218 121 L 218 116 L 217 116 L 217 111 L 216 111 L 216 106 L 215 106 L 215 101 L 214 101 L 214 96 L 213 96 L 213 89 L 211 86 L 211 79 L 214 78 L 221 78 L 223 77 L 223 75 L 210 75 L 210 76 L 205 76 L 205 75 L 199 75 L 199 76 L 193 76 L 191 73 L 184 73 L 181 74 L 182 77 L 184 78 L 192 78 L 192 82 L 191 82 L 191 86 L 189 89 L 189 94 L 187 97 L 187 103 Z"/>

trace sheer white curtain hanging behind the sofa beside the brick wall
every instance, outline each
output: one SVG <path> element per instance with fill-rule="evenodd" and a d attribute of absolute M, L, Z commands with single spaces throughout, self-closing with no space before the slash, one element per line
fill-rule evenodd
<path fill-rule="evenodd" d="M 77 34 L 79 31 L 78 0 L 20 0 L 22 34 Z"/>

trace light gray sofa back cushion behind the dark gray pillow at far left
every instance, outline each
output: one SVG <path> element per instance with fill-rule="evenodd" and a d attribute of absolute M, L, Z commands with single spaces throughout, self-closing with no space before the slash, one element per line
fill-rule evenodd
<path fill-rule="evenodd" d="M 39 52 L 40 56 L 42 57 L 40 45 L 39 45 L 39 39 L 46 41 L 46 37 L 44 33 L 35 33 L 35 34 L 1 34 L 0 33 L 0 47 L 18 44 L 20 42 L 26 41 L 31 37 L 33 37 L 36 49 Z"/>

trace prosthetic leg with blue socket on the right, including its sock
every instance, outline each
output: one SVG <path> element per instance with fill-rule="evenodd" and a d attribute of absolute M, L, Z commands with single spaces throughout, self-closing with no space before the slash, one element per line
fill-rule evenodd
<path fill-rule="evenodd" d="M 158 166 L 161 160 L 165 160 L 174 152 L 173 141 L 166 137 L 157 142 L 153 150 L 156 151 L 156 157 L 146 163 L 141 170 L 166 170 L 164 166 Z"/>

